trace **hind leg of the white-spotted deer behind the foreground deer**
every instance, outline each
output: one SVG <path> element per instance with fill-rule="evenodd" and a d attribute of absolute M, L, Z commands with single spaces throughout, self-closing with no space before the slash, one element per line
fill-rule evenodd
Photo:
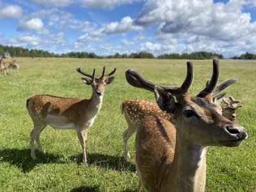
<path fill-rule="evenodd" d="M 128 125 L 128 128 L 123 133 L 124 159 L 126 162 L 129 162 L 129 159 L 131 158 L 127 143 L 129 138 L 131 138 L 132 134 L 134 134 L 134 132 L 136 132 L 137 129 L 138 129 L 138 126 Z"/>

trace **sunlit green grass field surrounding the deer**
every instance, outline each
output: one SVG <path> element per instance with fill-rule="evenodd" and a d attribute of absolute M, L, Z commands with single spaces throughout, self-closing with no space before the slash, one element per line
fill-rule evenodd
<path fill-rule="evenodd" d="M 186 60 L 88 60 L 17 58 L 20 72 L 0 74 L 0 191 L 136 191 L 138 177 L 134 165 L 134 136 L 129 142 L 131 163 L 122 157 L 122 132 L 127 128 L 120 114 L 122 100 L 154 100 L 153 93 L 134 88 L 125 81 L 125 70 L 137 68 L 159 84 L 180 85 L 186 76 Z M 211 78 L 212 61 L 193 61 L 196 95 Z M 36 150 L 32 161 L 29 133 L 33 126 L 26 99 L 37 94 L 89 98 L 92 88 L 76 72 L 81 67 L 97 77 L 117 68 L 115 81 L 106 87 L 102 109 L 88 134 L 88 164 L 82 164 L 81 146 L 74 130 L 51 127 L 41 134 L 46 154 Z M 239 124 L 248 140 L 236 148 L 209 147 L 206 191 L 256 191 L 256 62 L 220 61 L 220 81 L 237 77 L 239 82 L 226 92 L 241 100 Z"/>

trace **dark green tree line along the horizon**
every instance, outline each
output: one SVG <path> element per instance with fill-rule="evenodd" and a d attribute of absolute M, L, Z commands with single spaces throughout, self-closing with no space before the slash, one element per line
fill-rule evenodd
<path fill-rule="evenodd" d="M 188 60 L 209 60 L 213 57 L 218 57 L 224 59 L 222 54 L 212 53 L 212 52 L 191 52 L 191 53 L 170 53 L 170 54 L 161 54 L 157 57 L 150 52 L 133 52 L 131 54 L 119 54 L 109 56 L 98 56 L 93 52 L 67 52 L 63 54 L 55 54 L 53 52 L 43 51 L 40 49 L 26 49 L 23 47 L 13 47 L 13 46 L 4 46 L 0 45 L 0 54 L 4 52 L 9 52 L 12 57 L 35 57 L 35 58 L 158 58 L 158 59 L 188 59 Z M 248 53 L 242 54 L 241 56 L 235 56 L 232 59 L 250 59 L 255 60 L 256 54 Z"/>

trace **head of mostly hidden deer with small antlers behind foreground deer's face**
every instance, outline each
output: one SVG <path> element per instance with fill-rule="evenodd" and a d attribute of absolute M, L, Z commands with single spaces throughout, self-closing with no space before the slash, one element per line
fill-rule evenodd
<path fill-rule="evenodd" d="M 239 105 L 240 100 L 236 100 L 232 96 L 228 97 L 228 99 L 230 102 L 228 102 L 225 98 L 223 99 L 223 102 L 226 104 L 225 106 L 222 106 L 223 116 L 236 122 L 236 110 L 242 108 L 243 105 Z"/>

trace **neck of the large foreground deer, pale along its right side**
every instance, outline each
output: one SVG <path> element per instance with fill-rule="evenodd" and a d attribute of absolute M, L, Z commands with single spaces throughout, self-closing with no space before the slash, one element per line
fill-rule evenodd
<path fill-rule="evenodd" d="M 207 147 L 186 143 L 185 138 L 177 133 L 175 156 L 166 179 L 169 181 L 167 188 L 174 191 L 204 191 L 206 151 Z"/>

